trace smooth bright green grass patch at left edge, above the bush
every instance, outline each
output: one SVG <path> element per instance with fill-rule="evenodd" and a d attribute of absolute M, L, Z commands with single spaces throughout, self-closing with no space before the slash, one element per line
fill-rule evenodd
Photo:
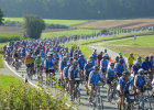
<path fill-rule="evenodd" d="M 7 90 L 11 84 L 18 86 L 21 81 L 11 75 L 0 75 L 0 89 Z"/>

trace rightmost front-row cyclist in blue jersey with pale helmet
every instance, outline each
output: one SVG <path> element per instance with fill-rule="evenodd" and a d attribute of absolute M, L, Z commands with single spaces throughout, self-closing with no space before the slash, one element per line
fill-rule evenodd
<path fill-rule="evenodd" d="M 134 86 L 136 88 L 138 98 L 143 97 L 143 92 L 145 91 L 144 85 L 147 82 L 146 76 L 144 76 L 144 70 L 141 68 L 139 69 L 139 75 L 135 76 Z M 141 103 L 140 103 L 141 105 Z"/>

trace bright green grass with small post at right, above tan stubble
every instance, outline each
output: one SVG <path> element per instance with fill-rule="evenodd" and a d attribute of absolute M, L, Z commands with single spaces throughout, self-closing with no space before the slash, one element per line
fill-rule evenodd
<path fill-rule="evenodd" d="M 106 43 L 106 45 L 154 46 L 154 35 L 138 36 L 136 42 L 134 38 L 127 38 Z"/>

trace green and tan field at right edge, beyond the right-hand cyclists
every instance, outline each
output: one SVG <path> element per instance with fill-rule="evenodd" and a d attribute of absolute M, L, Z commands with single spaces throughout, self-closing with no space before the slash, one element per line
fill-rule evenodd
<path fill-rule="evenodd" d="M 154 54 L 154 35 L 139 36 L 136 42 L 134 38 L 125 38 L 114 42 L 105 43 L 102 46 L 106 46 L 116 52 L 124 53 L 125 56 L 129 53 L 134 53 L 134 55 L 146 56 Z"/>

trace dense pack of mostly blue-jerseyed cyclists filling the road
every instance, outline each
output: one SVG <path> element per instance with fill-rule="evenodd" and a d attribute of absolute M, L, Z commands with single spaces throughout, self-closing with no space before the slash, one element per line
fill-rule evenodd
<path fill-rule="evenodd" d="M 119 108 L 123 107 L 124 97 L 130 95 L 130 88 L 135 92 L 136 103 L 143 105 L 141 99 L 145 92 L 145 86 L 151 87 L 154 76 L 154 56 L 145 58 L 133 56 L 130 53 L 128 59 L 124 59 L 122 53 L 116 59 L 111 59 L 107 50 L 94 53 L 88 59 L 85 58 L 79 46 L 65 47 L 52 38 L 28 40 L 10 42 L 3 47 L 3 57 L 9 65 L 20 69 L 21 65 L 26 65 L 26 74 L 33 79 L 36 73 L 38 80 L 46 80 L 59 74 L 61 86 L 70 95 L 75 85 L 85 86 L 86 94 L 89 96 L 89 102 L 92 102 L 95 88 L 99 82 L 101 88 L 108 85 L 108 101 L 111 101 L 113 94 L 112 84 L 117 88 L 119 96 Z M 43 74 L 46 76 L 43 77 Z"/>

